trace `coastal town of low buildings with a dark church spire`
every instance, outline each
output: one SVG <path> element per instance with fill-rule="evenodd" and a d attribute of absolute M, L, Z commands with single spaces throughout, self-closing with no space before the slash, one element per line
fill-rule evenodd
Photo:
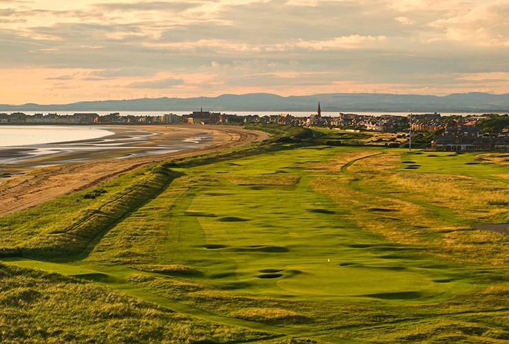
<path fill-rule="evenodd" d="M 487 122 L 495 125 L 486 127 Z M 257 114 L 238 116 L 219 111 L 193 111 L 190 114 L 120 115 L 111 113 L 33 114 L 13 112 L 0 114 L 0 123 L 11 124 L 141 124 L 141 125 L 248 125 L 278 124 L 303 127 L 325 127 L 348 131 L 379 131 L 387 133 L 409 133 L 415 144 L 433 151 L 509 151 L 509 118 L 507 115 L 486 114 L 483 116 L 442 116 L 433 114 L 389 114 L 361 115 L 338 113 L 338 116 L 323 116 L 318 103 L 316 113 L 310 116 L 292 114 Z M 408 145 L 408 143 L 406 143 Z M 414 146 L 415 147 L 415 146 Z"/>

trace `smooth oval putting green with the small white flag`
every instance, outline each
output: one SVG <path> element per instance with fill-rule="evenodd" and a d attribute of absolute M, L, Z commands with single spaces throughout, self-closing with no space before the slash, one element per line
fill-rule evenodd
<path fill-rule="evenodd" d="M 431 279 L 424 275 L 391 268 L 366 266 L 337 266 L 328 268 L 321 264 L 289 266 L 301 271 L 288 279 L 281 279 L 277 286 L 291 292 L 320 294 L 328 296 L 371 296 L 393 295 L 393 299 L 406 298 L 404 293 L 418 292 L 433 287 Z M 398 294 L 401 294 L 398 297 Z M 384 295 L 380 295 L 384 296 Z"/>

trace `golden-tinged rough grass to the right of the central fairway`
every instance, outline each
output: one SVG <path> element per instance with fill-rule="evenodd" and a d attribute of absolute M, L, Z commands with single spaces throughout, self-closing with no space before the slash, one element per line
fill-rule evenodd
<path fill-rule="evenodd" d="M 337 202 L 345 202 L 345 197 L 353 202 L 349 195 L 354 195 L 356 200 L 371 197 L 371 202 L 380 205 L 399 203 L 401 213 L 383 216 L 385 219 L 356 213 L 356 221 L 391 241 L 426 245 L 429 252 L 462 264 L 501 266 L 509 262 L 508 252 L 500 249 L 509 238 L 470 226 L 509 221 L 509 185 L 493 176 L 500 171 L 497 166 L 465 165 L 472 158 L 475 155 L 448 157 L 451 160 L 444 155 L 413 155 L 422 164 L 422 172 L 408 173 L 397 168 L 407 157 L 373 155 L 349 168 L 357 179 L 349 182 L 354 190 L 338 183 L 322 192 L 333 195 Z"/>

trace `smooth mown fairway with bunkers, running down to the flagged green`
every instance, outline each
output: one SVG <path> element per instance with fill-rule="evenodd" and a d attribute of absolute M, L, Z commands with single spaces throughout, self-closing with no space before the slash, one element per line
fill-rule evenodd
<path fill-rule="evenodd" d="M 424 290 L 427 297 L 450 288 L 451 284 L 432 281 L 440 272 L 398 259 L 398 252 L 414 248 L 391 246 L 359 230 L 349 221 L 349 204 L 336 204 L 313 191 L 310 182 L 322 172 L 311 167 L 331 159 L 333 152 L 297 149 L 193 170 L 221 173 L 216 175 L 221 184 L 197 188 L 192 200 L 180 201 L 186 203 L 182 214 L 189 223 L 179 228 L 175 239 L 180 239 L 180 252 L 173 259 L 196 266 L 215 281 L 235 286 L 245 282 L 243 290 L 272 297 L 398 300 L 417 299 Z M 279 173 L 274 174 L 274 166 Z M 255 182 L 243 174 L 246 171 L 274 179 L 277 175 L 299 178 L 285 186 L 228 180 L 228 175 L 235 175 L 246 184 Z M 328 271 L 327 259 L 334 262 Z"/>

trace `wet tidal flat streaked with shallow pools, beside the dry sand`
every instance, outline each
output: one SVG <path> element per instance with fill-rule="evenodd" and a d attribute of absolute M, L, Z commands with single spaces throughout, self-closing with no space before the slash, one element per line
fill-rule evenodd
<path fill-rule="evenodd" d="M 210 131 L 168 126 L 101 125 L 96 129 L 110 134 L 100 138 L 0 147 L 0 175 L 15 176 L 43 166 L 173 153 L 204 147 L 214 140 Z"/>

